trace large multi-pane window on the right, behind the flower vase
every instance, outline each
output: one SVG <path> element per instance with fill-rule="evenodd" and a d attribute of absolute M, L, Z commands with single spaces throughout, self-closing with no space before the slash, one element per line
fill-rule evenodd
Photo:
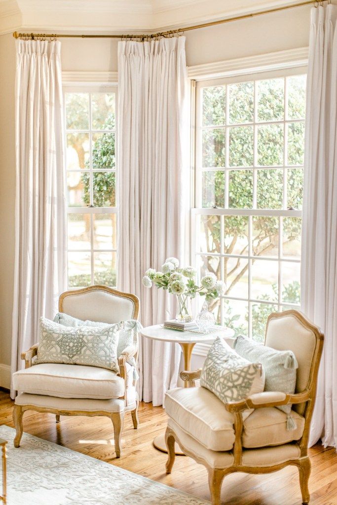
<path fill-rule="evenodd" d="M 306 76 L 292 74 L 197 83 L 194 260 L 226 282 L 217 322 L 256 340 L 300 304 Z"/>

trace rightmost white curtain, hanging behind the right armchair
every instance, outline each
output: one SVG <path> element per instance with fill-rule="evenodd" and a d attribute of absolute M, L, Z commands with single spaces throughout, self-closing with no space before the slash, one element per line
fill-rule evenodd
<path fill-rule="evenodd" d="M 302 310 L 325 334 L 310 445 L 337 442 L 337 7 L 313 8 L 303 198 Z"/>

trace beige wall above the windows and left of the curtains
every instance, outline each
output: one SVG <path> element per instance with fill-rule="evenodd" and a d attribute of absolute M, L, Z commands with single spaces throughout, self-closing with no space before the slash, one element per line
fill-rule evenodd
<path fill-rule="evenodd" d="M 299 8 L 186 32 L 187 65 L 307 46 L 309 16 L 310 8 Z M 117 41 L 63 39 L 62 69 L 116 71 Z M 14 80 L 15 41 L 11 35 L 3 35 L 0 36 L 0 366 L 9 365 L 11 356 L 15 203 Z"/>

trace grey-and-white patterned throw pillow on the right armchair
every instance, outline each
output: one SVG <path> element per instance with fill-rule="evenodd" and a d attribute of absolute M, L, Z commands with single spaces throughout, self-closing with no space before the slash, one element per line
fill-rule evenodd
<path fill-rule="evenodd" d="M 238 356 L 234 349 L 218 337 L 208 351 L 200 385 L 221 401 L 240 401 L 264 389 L 264 372 L 260 363 L 251 363 Z"/>

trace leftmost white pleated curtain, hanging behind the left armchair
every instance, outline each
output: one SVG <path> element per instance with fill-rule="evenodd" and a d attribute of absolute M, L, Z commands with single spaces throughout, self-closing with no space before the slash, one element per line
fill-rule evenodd
<path fill-rule="evenodd" d="M 60 42 L 18 40 L 12 373 L 66 287 Z M 15 391 L 12 389 L 12 397 Z"/>

